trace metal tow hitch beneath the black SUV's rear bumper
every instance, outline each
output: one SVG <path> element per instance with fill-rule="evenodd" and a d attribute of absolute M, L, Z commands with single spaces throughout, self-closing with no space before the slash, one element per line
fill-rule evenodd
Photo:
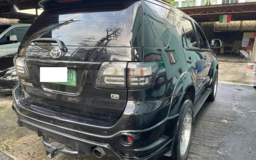
<path fill-rule="evenodd" d="M 55 156 L 57 156 L 58 153 L 63 153 L 65 155 L 69 155 L 69 156 L 84 155 L 84 154 L 78 153 L 78 151 L 75 151 L 73 149 L 66 147 L 64 144 L 61 144 L 58 142 L 50 143 L 49 138 L 46 136 L 42 136 L 42 137 L 43 137 L 43 143 L 47 147 L 46 156 L 49 158 L 54 158 Z"/>

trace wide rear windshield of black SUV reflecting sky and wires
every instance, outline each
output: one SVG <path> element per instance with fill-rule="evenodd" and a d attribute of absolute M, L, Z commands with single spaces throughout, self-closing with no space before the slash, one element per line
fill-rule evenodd
<path fill-rule="evenodd" d="M 44 11 L 27 31 L 32 39 L 57 38 L 66 46 L 142 47 L 141 1 Z"/>

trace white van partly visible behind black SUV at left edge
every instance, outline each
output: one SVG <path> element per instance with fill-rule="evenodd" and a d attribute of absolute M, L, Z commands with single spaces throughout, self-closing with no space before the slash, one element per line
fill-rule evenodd
<path fill-rule="evenodd" d="M 18 51 L 18 46 L 31 24 L 0 24 L 0 56 Z"/>

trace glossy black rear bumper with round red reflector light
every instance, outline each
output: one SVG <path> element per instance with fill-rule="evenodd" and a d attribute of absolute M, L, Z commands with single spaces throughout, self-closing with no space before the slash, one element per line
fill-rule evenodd
<path fill-rule="evenodd" d="M 65 144 L 77 151 L 78 156 L 91 154 L 93 148 L 102 147 L 106 155 L 114 155 L 119 160 L 154 160 L 171 149 L 174 134 L 165 134 L 165 132 L 169 133 L 166 127 L 169 127 L 170 124 L 177 124 L 178 116 L 170 117 L 145 130 L 127 130 L 127 127 L 124 126 L 123 128 L 125 128 L 125 130 L 114 130 L 116 131 L 114 134 L 108 135 L 106 133 L 111 130 L 110 127 L 102 128 L 102 134 L 94 134 L 91 132 L 91 127 L 85 130 L 85 128 L 80 128 L 76 125 L 70 128 L 70 125 L 59 125 L 59 123 L 56 125 L 55 121 L 52 120 L 50 120 L 50 122 L 43 121 L 41 117 L 44 115 L 30 111 L 23 106 L 21 99 L 18 98 L 20 97 L 19 91 L 19 87 L 17 86 L 13 91 L 13 108 L 18 116 L 18 125 L 26 126 L 28 129 L 37 132 L 38 136 L 50 137 Z M 34 117 L 28 116 L 32 114 Z M 173 128 L 176 128 L 175 126 Z M 121 127 L 122 126 L 120 126 L 120 128 Z M 174 129 L 171 129 L 170 132 L 174 133 L 173 130 Z M 134 145 L 123 146 L 119 143 L 119 138 L 122 135 L 133 137 Z"/>

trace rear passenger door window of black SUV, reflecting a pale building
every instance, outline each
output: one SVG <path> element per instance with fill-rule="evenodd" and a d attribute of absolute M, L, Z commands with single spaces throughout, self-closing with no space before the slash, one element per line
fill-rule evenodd
<path fill-rule="evenodd" d="M 184 30 L 184 39 L 187 47 L 197 47 L 197 37 L 192 26 L 192 22 L 186 18 L 182 18 L 182 25 Z"/>

